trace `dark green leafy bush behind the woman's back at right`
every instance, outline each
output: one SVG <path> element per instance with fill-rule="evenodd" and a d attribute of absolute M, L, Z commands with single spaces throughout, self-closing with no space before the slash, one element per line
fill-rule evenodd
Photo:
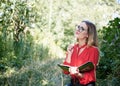
<path fill-rule="evenodd" d="M 120 18 L 109 21 L 99 33 L 101 34 L 101 58 L 98 78 L 102 79 L 102 83 L 106 82 L 105 86 L 116 86 L 120 79 Z"/>

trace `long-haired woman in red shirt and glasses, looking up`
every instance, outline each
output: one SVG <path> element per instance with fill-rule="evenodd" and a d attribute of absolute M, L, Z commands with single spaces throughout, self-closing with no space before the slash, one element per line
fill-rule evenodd
<path fill-rule="evenodd" d="M 65 74 L 71 76 L 71 83 L 67 86 L 95 86 L 96 66 L 99 59 L 97 31 L 93 23 L 82 21 L 76 26 L 75 37 L 77 43 L 69 45 L 67 55 L 63 64 L 70 65 L 69 72 Z M 78 66 L 92 62 L 94 69 L 87 72 L 79 72 Z"/>

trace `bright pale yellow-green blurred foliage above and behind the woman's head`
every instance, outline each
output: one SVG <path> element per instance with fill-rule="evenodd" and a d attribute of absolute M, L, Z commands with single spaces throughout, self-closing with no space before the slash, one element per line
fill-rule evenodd
<path fill-rule="evenodd" d="M 40 17 L 37 22 L 39 29 L 51 32 L 52 39 L 64 50 L 68 44 L 73 43 L 76 24 L 82 20 L 91 20 L 98 28 L 102 28 L 109 19 L 112 19 L 112 15 L 119 8 L 113 0 L 36 1 Z"/>

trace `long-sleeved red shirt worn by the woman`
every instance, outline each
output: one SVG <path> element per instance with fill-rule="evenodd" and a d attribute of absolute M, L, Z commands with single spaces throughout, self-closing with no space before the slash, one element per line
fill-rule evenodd
<path fill-rule="evenodd" d="M 95 66 L 94 69 L 89 72 L 84 72 L 83 78 L 79 78 L 79 81 L 81 84 L 84 84 L 84 85 L 88 84 L 89 82 L 95 82 L 96 81 L 96 65 L 99 59 L 98 48 L 95 46 L 87 47 L 84 45 L 83 46 L 84 50 L 79 55 L 78 55 L 78 48 L 79 48 L 78 44 L 74 45 L 70 63 L 67 63 L 66 61 L 64 61 L 64 64 L 78 67 L 88 61 L 92 62 Z"/>

